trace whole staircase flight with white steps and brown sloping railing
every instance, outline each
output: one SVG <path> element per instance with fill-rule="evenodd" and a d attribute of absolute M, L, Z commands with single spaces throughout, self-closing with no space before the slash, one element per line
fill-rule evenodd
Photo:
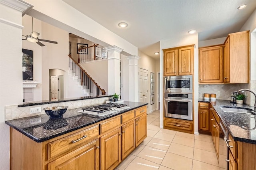
<path fill-rule="evenodd" d="M 106 92 L 84 71 L 84 69 L 68 55 L 68 74 L 78 83 L 85 96 L 105 95 Z"/>

